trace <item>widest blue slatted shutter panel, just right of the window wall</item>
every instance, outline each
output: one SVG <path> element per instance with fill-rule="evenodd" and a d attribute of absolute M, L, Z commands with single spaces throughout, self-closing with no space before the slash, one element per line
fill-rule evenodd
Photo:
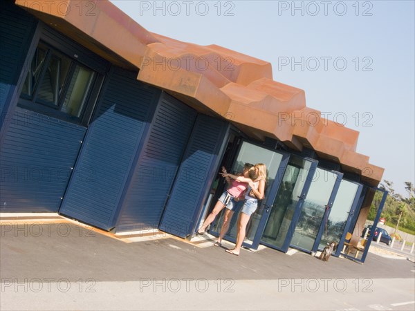
<path fill-rule="evenodd" d="M 111 229 L 127 176 L 154 113 L 160 91 L 137 81 L 136 73 L 115 68 L 104 88 L 61 214 Z"/>

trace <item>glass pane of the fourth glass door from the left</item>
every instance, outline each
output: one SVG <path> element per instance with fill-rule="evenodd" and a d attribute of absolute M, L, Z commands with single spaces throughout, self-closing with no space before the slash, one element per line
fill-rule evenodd
<path fill-rule="evenodd" d="M 340 182 L 333 207 L 331 207 L 329 219 L 324 223 L 324 231 L 318 247 L 320 250 L 328 243 L 331 243 L 331 241 L 335 243 L 340 242 L 358 188 L 358 185 L 353 182 L 347 180 Z"/>

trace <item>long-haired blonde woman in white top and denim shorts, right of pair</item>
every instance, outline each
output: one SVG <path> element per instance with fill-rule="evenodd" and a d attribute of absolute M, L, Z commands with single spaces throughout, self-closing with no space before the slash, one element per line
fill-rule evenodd
<path fill-rule="evenodd" d="M 241 246 L 246 236 L 246 225 L 248 225 L 250 216 L 254 214 L 257 210 L 258 201 L 264 198 L 266 183 L 266 165 L 263 163 L 258 163 L 255 164 L 254 167 L 257 178 L 253 181 L 243 176 L 235 176 L 229 173 L 223 174 L 223 176 L 228 176 L 239 182 L 248 182 L 249 185 L 248 191 L 246 191 L 245 195 L 245 202 L 241 209 L 241 213 L 239 213 L 237 243 L 234 249 L 225 250 L 225 252 L 228 252 L 236 256 L 239 256 L 239 252 L 241 252 Z"/>

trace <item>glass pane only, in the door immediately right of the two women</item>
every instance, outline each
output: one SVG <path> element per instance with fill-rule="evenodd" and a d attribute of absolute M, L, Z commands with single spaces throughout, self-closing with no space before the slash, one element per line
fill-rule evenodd
<path fill-rule="evenodd" d="M 291 156 L 271 207 L 270 216 L 261 238 L 262 242 L 275 247 L 282 247 L 284 244 L 310 167 L 310 161 Z"/>

